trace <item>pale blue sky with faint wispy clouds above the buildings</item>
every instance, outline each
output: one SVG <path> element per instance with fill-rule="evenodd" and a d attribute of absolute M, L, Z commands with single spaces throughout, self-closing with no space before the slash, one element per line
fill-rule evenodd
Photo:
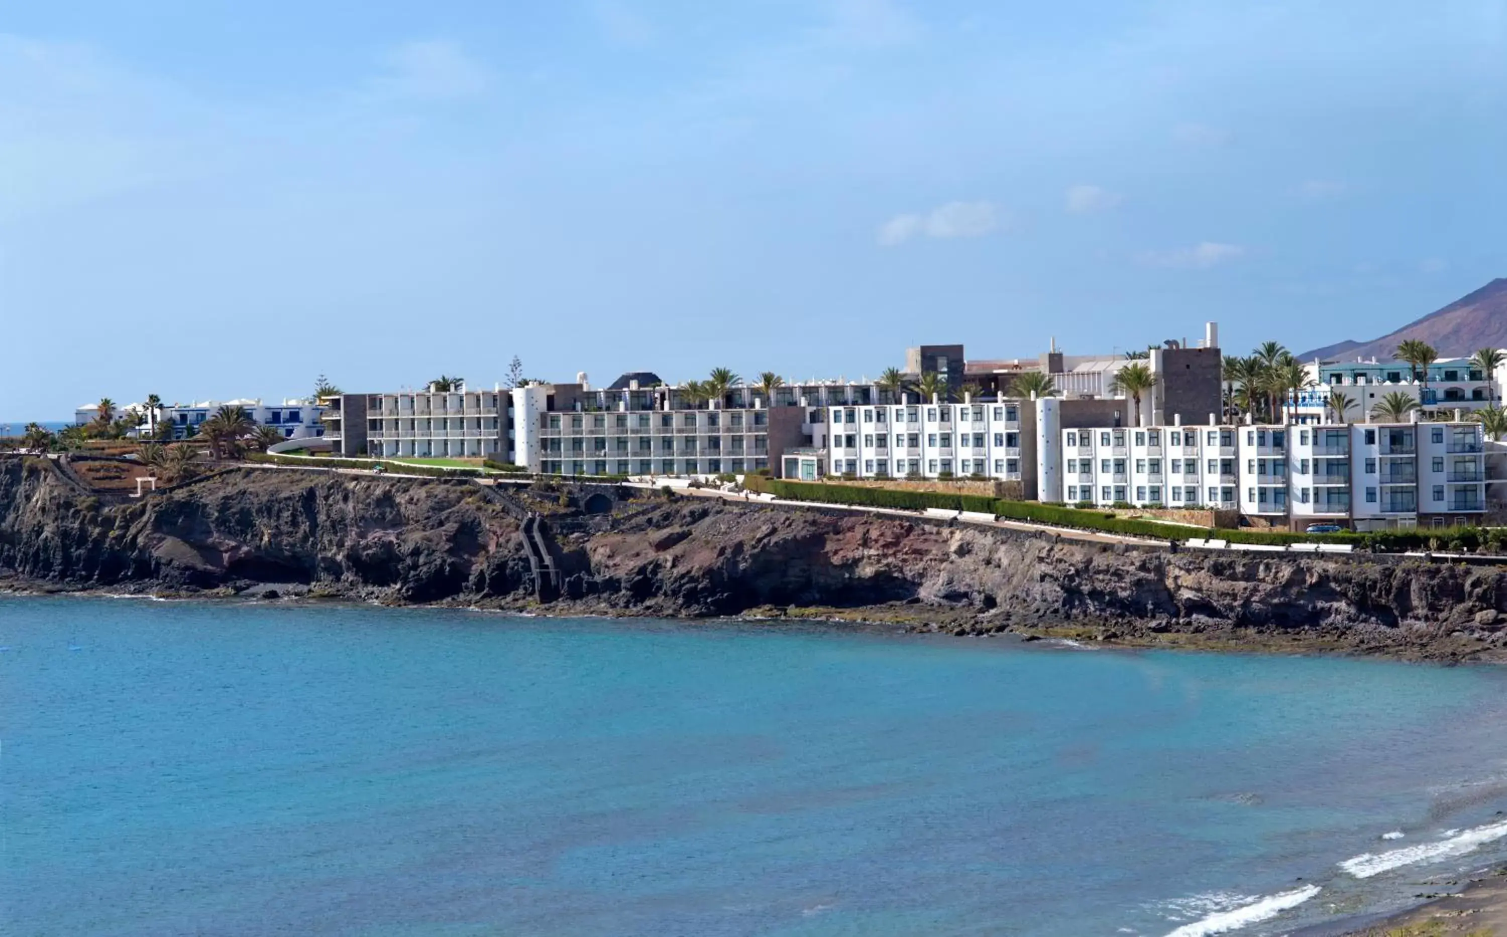
<path fill-rule="evenodd" d="M 0 0 L 0 419 L 1368 339 L 1507 276 L 1507 0 Z"/>

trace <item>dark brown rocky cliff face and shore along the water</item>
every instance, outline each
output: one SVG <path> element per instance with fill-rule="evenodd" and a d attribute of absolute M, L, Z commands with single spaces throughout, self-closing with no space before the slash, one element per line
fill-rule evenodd
<path fill-rule="evenodd" d="M 0 581 L 44 591 L 273 594 L 559 615 L 827 618 L 954 634 L 1507 660 L 1490 566 L 1169 553 L 924 518 L 298 470 L 146 499 L 0 458 Z M 520 536 L 541 530 L 543 597 Z"/>

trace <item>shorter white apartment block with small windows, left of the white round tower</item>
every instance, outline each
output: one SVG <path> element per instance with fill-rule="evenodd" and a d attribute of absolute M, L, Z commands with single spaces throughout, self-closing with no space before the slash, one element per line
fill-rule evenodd
<path fill-rule="evenodd" d="M 829 475 L 850 478 L 990 478 L 1023 481 L 1029 401 L 827 407 Z M 1031 465 L 1034 470 L 1034 465 Z"/>

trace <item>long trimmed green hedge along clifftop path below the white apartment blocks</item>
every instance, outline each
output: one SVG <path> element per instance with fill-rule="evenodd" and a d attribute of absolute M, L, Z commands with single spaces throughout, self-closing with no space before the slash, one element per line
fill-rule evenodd
<path fill-rule="evenodd" d="M 1483 530 L 1478 527 L 1451 527 L 1447 530 L 1379 530 L 1374 533 L 1295 533 L 1291 530 L 1254 529 L 1209 529 L 1200 530 L 1186 524 L 1168 524 L 1154 520 L 1120 517 L 1094 508 L 1067 508 L 1040 502 L 1008 502 L 977 494 L 945 494 L 937 491 L 895 491 L 891 488 L 862 488 L 857 485 L 829 485 L 820 482 L 788 482 L 747 476 L 743 487 L 764 491 L 796 502 L 823 502 L 829 505 L 856 505 L 864 508 L 897 508 L 903 511 L 974 511 L 995 517 L 1076 527 L 1081 530 L 1103 530 L 1148 539 L 1188 539 L 1204 536 L 1234 544 L 1287 545 L 1298 542 L 1352 544 L 1359 548 L 1374 548 L 1385 553 L 1408 550 L 1475 550 L 1484 544 L 1489 550 L 1507 550 L 1507 530 Z"/>

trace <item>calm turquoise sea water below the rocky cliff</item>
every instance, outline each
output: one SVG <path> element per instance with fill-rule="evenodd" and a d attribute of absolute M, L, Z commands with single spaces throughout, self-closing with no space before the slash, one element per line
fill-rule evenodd
<path fill-rule="evenodd" d="M 0 598 L 0 932 L 1288 932 L 1502 856 L 1504 679 Z"/>

